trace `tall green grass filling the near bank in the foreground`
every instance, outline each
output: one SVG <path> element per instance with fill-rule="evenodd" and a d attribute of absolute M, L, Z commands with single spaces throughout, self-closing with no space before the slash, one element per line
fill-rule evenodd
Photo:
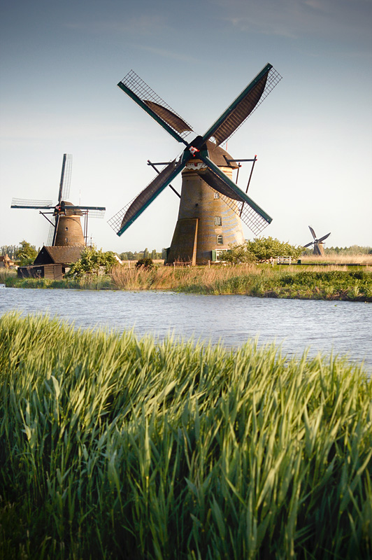
<path fill-rule="evenodd" d="M 372 384 L 132 332 L 0 319 L 0 558 L 365 559 Z"/>

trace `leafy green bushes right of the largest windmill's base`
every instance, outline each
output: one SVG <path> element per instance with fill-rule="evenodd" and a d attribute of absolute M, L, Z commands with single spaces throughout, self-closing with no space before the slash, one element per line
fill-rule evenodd
<path fill-rule="evenodd" d="M 241 262 L 265 262 L 278 255 L 298 258 L 302 252 L 302 246 L 289 245 L 273 237 L 256 237 L 252 241 L 245 241 L 243 245 L 235 245 L 229 251 L 224 251 L 220 260 L 236 265 Z"/>

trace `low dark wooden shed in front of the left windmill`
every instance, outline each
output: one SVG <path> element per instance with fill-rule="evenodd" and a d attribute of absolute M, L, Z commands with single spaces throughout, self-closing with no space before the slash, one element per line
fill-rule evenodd
<path fill-rule="evenodd" d="M 43 246 L 34 264 L 28 267 L 18 267 L 18 278 L 48 278 L 62 280 L 66 269 L 80 259 L 85 246 Z"/>

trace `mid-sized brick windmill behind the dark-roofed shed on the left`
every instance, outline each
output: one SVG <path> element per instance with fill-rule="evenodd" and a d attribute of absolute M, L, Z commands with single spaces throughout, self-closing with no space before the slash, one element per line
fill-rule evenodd
<path fill-rule="evenodd" d="M 72 155 L 64 154 L 61 181 L 59 182 L 58 202 L 52 200 L 25 200 L 13 198 L 10 208 L 38 209 L 50 223 L 47 246 L 82 246 L 87 241 L 88 216 L 103 218 L 105 207 L 75 206 L 68 202 L 70 196 Z M 50 214 L 50 218 L 47 217 Z M 84 216 L 84 232 L 80 218 Z"/>

